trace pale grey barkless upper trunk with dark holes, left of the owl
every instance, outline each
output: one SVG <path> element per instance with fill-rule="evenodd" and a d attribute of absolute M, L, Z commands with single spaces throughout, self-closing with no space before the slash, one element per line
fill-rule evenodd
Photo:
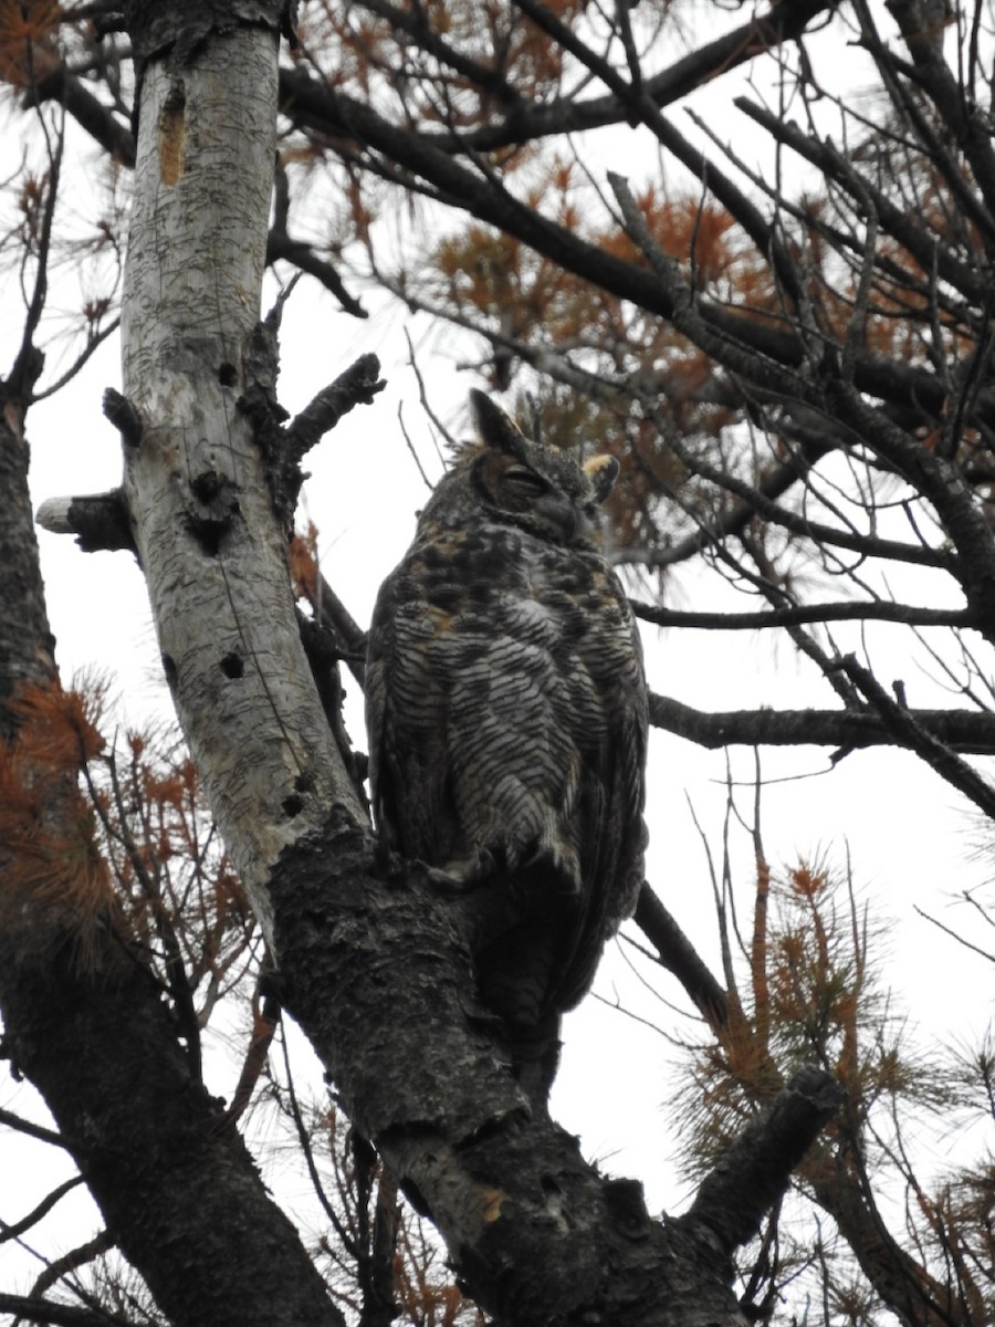
<path fill-rule="evenodd" d="M 358 815 L 304 658 L 265 458 L 240 407 L 259 386 L 245 381 L 245 357 L 273 183 L 283 5 L 268 5 L 265 27 L 259 4 L 253 21 L 220 32 L 203 5 L 168 7 L 168 25 L 150 8 L 141 19 L 153 32 L 133 28 L 139 57 L 153 56 L 121 317 L 125 395 L 141 421 L 125 449 L 125 496 L 180 723 L 269 934 L 261 886 L 280 849 L 340 798 Z"/>

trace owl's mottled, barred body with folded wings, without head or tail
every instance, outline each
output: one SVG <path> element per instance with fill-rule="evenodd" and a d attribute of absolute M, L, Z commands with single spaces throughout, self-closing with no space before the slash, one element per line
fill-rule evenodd
<path fill-rule="evenodd" d="M 381 832 L 454 882 L 555 896 L 551 999 L 570 1007 L 642 881 L 647 706 L 621 584 L 598 555 L 507 524 L 423 528 L 370 642 Z"/>

